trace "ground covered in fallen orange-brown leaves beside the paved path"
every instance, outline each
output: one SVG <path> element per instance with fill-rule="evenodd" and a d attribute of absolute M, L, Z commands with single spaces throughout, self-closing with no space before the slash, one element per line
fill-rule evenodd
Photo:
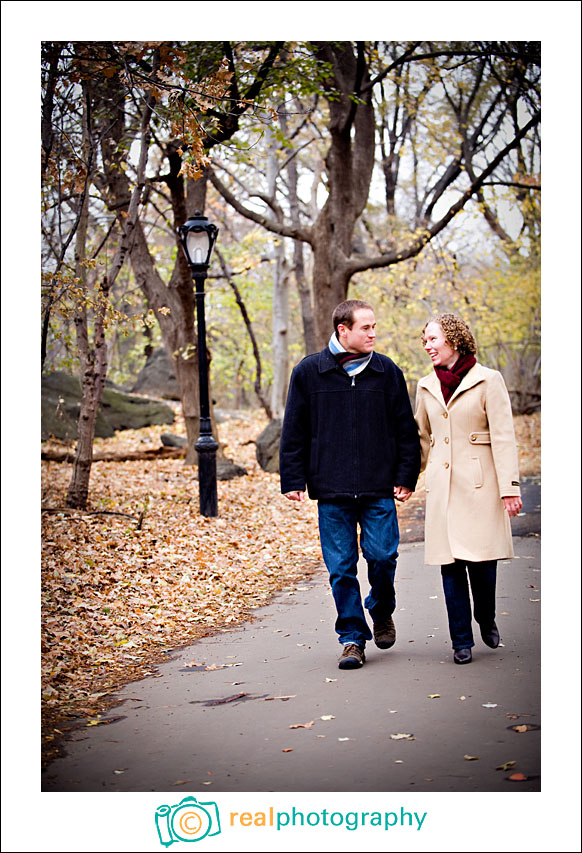
<path fill-rule="evenodd" d="M 47 757 L 67 720 L 95 714 L 116 688 L 155 674 L 170 650 L 248 619 L 320 564 L 316 504 L 287 501 L 278 475 L 256 462 L 265 425 L 261 413 L 220 424 L 225 455 L 248 475 L 219 481 L 214 519 L 199 515 L 197 469 L 182 459 L 94 463 L 87 513 L 54 511 L 65 507 L 71 466 L 42 463 Z M 159 447 L 167 429 L 121 432 L 95 449 Z M 180 422 L 173 431 L 183 432 Z M 539 416 L 516 418 L 516 432 L 522 474 L 539 473 Z M 404 541 L 421 531 L 423 492 L 421 479 L 399 506 Z"/>

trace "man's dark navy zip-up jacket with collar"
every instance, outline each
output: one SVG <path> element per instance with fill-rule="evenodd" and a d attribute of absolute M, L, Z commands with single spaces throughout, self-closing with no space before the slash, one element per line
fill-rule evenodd
<path fill-rule="evenodd" d="M 310 498 L 394 497 L 414 490 L 420 470 L 418 429 L 404 375 L 373 353 L 348 376 L 328 348 L 291 374 L 279 451 L 281 491 Z"/>

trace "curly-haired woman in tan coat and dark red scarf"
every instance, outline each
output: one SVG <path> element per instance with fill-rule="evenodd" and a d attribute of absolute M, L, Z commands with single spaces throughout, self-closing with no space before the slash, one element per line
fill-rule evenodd
<path fill-rule="evenodd" d="M 455 314 L 423 329 L 434 371 L 418 383 L 416 422 L 426 468 L 425 562 L 440 565 L 453 660 L 471 663 L 475 621 L 499 645 L 497 560 L 513 557 L 509 518 L 522 507 L 517 448 L 503 377 L 475 358 L 475 339 Z"/>

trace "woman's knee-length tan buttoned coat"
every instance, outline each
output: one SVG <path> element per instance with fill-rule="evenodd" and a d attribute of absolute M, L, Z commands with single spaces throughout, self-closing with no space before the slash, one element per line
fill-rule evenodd
<path fill-rule="evenodd" d="M 435 372 L 418 383 L 416 422 L 426 469 L 425 562 L 513 557 L 503 497 L 519 496 L 509 394 L 475 364 L 445 404 Z"/>

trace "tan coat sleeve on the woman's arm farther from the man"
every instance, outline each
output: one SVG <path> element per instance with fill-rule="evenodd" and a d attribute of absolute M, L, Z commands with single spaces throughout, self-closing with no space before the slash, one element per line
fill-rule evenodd
<path fill-rule="evenodd" d="M 485 406 L 491 452 L 499 483 L 499 497 L 519 497 L 521 490 L 511 400 L 503 377 L 498 371 L 494 371 L 486 383 Z"/>

